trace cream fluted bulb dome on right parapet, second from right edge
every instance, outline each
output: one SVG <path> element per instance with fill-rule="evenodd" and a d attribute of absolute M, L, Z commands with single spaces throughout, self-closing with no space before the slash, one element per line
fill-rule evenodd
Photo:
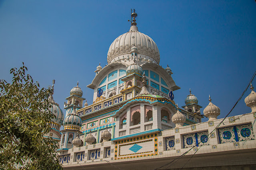
<path fill-rule="evenodd" d="M 217 116 L 220 115 L 220 108 L 218 106 L 215 106 L 214 104 L 212 104 L 212 102 L 211 102 L 212 99 L 211 99 L 210 95 L 209 95 L 209 101 L 210 101 L 210 103 L 204 109 L 204 115 L 209 118 L 209 121 L 216 120 Z"/>

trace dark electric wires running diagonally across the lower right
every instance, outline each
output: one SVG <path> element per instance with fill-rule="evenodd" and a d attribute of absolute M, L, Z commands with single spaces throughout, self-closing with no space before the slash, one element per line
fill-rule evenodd
<path fill-rule="evenodd" d="M 209 135 L 212 135 L 212 133 L 214 133 L 214 131 L 216 131 L 216 129 L 221 125 L 221 123 L 223 123 L 223 121 L 228 117 L 228 115 L 231 113 L 231 111 L 234 109 L 234 107 L 238 104 L 238 102 L 242 99 L 242 97 L 244 96 L 244 94 L 245 94 L 245 92 L 247 91 L 247 89 L 248 89 L 248 87 L 250 86 L 250 84 L 252 83 L 252 81 L 253 81 L 253 79 L 254 79 L 254 77 L 256 76 L 256 70 L 255 70 L 255 72 L 254 72 L 254 74 L 253 74 L 253 76 L 252 76 L 252 78 L 250 79 L 250 81 L 249 81 L 249 83 L 247 84 L 247 86 L 246 86 L 246 88 L 245 88 L 245 90 L 244 90 L 244 92 L 242 93 L 242 95 L 240 96 L 240 98 L 238 98 L 238 100 L 237 100 L 237 102 L 236 102 L 236 104 L 234 104 L 234 106 L 232 107 L 232 109 L 229 111 L 229 113 L 224 117 L 224 119 L 222 119 L 222 121 L 214 128 L 214 130 L 211 132 L 211 133 L 209 133 L 206 137 L 207 137 L 207 139 L 208 139 L 208 136 Z M 245 115 L 245 114 L 244 114 Z M 200 144 L 201 143 L 201 141 L 198 143 L 198 144 Z M 196 152 L 202 147 L 203 145 L 201 145 L 197 150 L 196 150 Z M 194 147 L 196 147 L 196 146 L 194 146 Z M 189 150 L 187 150 L 186 152 L 184 152 L 184 154 L 182 154 L 182 155 L 180 155 L 178 158 L 175 158 L 174 160 L 172 160 L 172 162 L 174 162 L 175 160 L 180 160 L 180 158 L 182 158 L 184 155 L 186 155 L 190 150 L 192 150 L 194 147 L 192 147 L 192 148 L 190 148 Z M 194 153 L 194 154 L 196 154 L 196 152 Z M 194 156 L 194 154 L 191 156 L 191 158 Z M 191 159 L 190 158 L 190 159 Z M 186 164 L 190 161 L 190 159 L 186 162 Z M 177 161 L 178 161 L 177 160 Z M 176 162 L 177 162 L 176 161 Z M 163 165 L 163 166 L 161 166 L 161 167 L 159 167 L 159 168 L 162 168 L 162 167 L 164 167 L 164 166 L 167 166 L 167 165 L 169 165 L 169 164 L 171 164 L 172 162 L 169 162 L 168 164 L 165 164 L 165 165 Z M 175 163 L 175 162 L 174 162 Z M 184 166 L 186 165 L 186 164 L 184 164 Z M 172 164 L 171 164 L 172 165 Z M 170 165 L 170 166 L 171 166 Z M 169 168 L 170 166 L 168 166 L 167 168 Z M 184 168 L 184 166 L 182 166 L 182 168 Z M 159 168 L 156 168 L 156 169 L 154 169 L 154 170 L 157 170 L 157 169 L 159 169 Z M 166 168 L 166 169 L 167 169 Z M 182 169 L 181 168 L 181 169 Z"/>

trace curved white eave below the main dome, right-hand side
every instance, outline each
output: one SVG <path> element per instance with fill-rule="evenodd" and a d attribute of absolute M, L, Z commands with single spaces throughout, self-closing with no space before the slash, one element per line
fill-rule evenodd
<path fill-rule="evenodd" d="M 174 80 L 172 79 L 172 76 L 164 68 L 162 68 L 160 65 L 156 63 L 144 63 L 141 65 L 142 70 L 146 70 L 147 68 L 156 68 L 164 77 L 166 77 L 167 84 L 170 85 L 169 87 L 172 88 L 172 90 L 178 90 L 180 89 L 179 86 L 176 86 Z"/>

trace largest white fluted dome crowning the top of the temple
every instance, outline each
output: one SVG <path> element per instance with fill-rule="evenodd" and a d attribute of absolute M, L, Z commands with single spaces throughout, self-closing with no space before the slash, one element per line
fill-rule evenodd
<path fill-rule="evenodd" d="M 121 56 L 120 59 L 123 55 L 127 57 L 125 54 L 130 53 L 131 48 L 134 46 L 138 49 L 138 53 L 152 57 L 159 64 L 160 55 L 156 43 L 148 35 L 139 32 L 136 25 L 132 25 L 129 32 L 117 37 L 110 45 L 108 64 L 116 57 Z"/>

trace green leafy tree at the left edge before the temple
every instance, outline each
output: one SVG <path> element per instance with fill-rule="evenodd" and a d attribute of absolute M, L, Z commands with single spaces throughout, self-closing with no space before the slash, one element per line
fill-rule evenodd
<path fill-rule="evenodd" d="M 0 80 L 0 169 L 62 169 L 58 141 L 44 138 L 54 115 L 50 88 L 39 89 L 26 66 L 12 68 L 12 83 Z"/>

